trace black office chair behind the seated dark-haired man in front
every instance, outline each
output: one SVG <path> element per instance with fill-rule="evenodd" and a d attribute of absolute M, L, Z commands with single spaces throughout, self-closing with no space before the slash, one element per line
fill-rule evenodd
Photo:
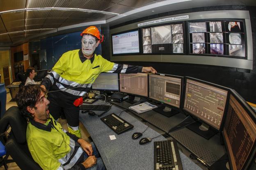
<path fill-rule="evenodd" d="M 10 125 L 11 132 L 5 148 L 12 159 L 22 170 L 42 170 L 32 158 L 26 140 L 27 120 L 21 115 L 18 107 L 10 107 L 0 120 L 0 133 Z"/>

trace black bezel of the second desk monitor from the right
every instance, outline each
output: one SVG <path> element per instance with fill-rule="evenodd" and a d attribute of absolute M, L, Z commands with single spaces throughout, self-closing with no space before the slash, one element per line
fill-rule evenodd
<path fill-rule="evenodd" d="M 223 111 L 223 115 L 222 115 L 222 122 L 221 122 L 221 125 L 219 126 L 219 129 L 217 129 L 216 127 L 214 127 L 213 125 L 210 125 L 208 122 L 202 120 L 200 117 L 197 117 L 195 116 L 193 113 L 190 113 L 189 111 L 185 110 L 184 109 L 184 104 L 185 104 L 185 94 L 186 94 L 186 86 L 187 86 L 187 79 L 191 79 L 193 81 L 197 81 L 197 82 L 200 82 L 200 83 L 203 83 L 203 84 L 207 84 L 207 85 L 210 85 L 210 86 L 214 86 L 214 87 L 217 87 L 217 88 L 221 88 L 223 90 L 226 90 L 227 91 L 227 98 L 226 98 L 226 104 L 225 104 L 225 107 L 224 107 L 224 111 Z M 186 113 L 186 114 L 189 114 L 190 116 L 192 116 L 193 118 L 196 118 L 198 120 L 200 120 L 201 122 L 209 125 L 210 127 L 213 127 L 214 129 L 216 129 L 217 131 L 222 131 L 223 127 L 224 127 L 224 121 L 226 119 L 226 111 L 227 111 L 227 104 L 229 102 L 229 93 L 230 93 L 230 88 L 227 88 L 227 87 L 224 87 L 224 86 L 221 86 L 221 85 L 218 85 L 218 84 L 214 84 L 214 83 L 211 83 L 211 82 L 206 82 L 204 80 L 201 80 L 201 79 L 196 79 L 196 78 L 193 78 L 193 77 L 187 77 L 185 76 L 184 78 L 184 91 L 183 91 L 183 112 Z"/>

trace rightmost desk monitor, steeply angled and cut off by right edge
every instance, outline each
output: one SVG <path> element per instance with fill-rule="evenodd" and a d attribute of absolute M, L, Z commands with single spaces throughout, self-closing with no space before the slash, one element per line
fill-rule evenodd
<path fill-rule="evenodd" d="M 256 113 L 231 90 L 224 121 L 223 137 L 231 170 L 248 169 L 256 156 Z"/>

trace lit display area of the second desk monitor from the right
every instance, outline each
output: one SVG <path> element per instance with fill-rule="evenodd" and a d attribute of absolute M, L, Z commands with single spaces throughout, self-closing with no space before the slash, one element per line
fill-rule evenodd
<path fill-rule="evenodd" d="M 224 89 L 187 79 L 184 109 L 219 130 L 227 94 Z"/>

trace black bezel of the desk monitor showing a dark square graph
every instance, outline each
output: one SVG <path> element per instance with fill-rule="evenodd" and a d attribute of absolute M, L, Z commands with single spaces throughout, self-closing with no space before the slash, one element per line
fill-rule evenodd
<path fill-rule="evenodd" d="M 161 76 L 166 76 L 166 77 L 174 77 L 174 78 L 180 78 L 181 79 L 181 99 L 180 99 L 180 106 L 179 108 L 176 106 L 173 106 L 171 104 L 167 104 L 167 103 L 163 103 L 160 102 L 159 100 L 155 100 L 151 97 L 148 97 L 149 99 L 155 101 L 155 102 L 160 102 L 161 104 L 163 104 L 164 106 L 167 107 L 172 107 L 172 108 L 177 108 L 177 109 L 183 109 L 183 90 L 184 90 L 184 77 L 183 76 L 178 76 L 178 75 L 169 75 L 169 74 L 164 74 L 164 73 L 155 73 L 154 75 L 161 75 Z M 150 76 L 150 75 L 149 75 Z M 149 81 L 149 78 L 148 78 Z M 149 83 L 148 83 L 148 96 L 149 96 Z"/>

